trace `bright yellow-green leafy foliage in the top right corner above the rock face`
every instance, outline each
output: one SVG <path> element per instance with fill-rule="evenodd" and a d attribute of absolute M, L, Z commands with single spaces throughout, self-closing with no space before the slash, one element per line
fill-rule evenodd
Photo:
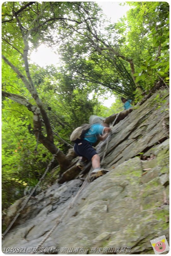
<path fill-rule="evenodd" d="M 158 80 L 164 83 L 169 80 L 169 4 L 129 4 L 134 8 L 117 24 L 117 28 L 124 27 L 121 33 L 124 43 L 120 49 L 134 60 L 135 82 L 148 91 Z"/>

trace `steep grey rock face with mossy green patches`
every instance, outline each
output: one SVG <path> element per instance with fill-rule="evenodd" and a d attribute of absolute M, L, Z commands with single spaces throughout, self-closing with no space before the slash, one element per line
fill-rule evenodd
<path fill-rule="evenodd" d="M 154 254 L 150 240 L 165 235 L 169 241 L 167 104 L 168 93 L 157 92 L 114 126 L 103 164 L 110 172 L 85 184 L 79 194 L 83 181 L 75 179 L 31 198 L 2 241 L 4 253 Z M 9 209 L 7 226 L 22 200 Z"/>

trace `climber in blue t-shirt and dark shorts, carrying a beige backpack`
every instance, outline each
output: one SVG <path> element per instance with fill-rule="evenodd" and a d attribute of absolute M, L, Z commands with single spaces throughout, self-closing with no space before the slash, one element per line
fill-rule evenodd
<path fill-rule="evenodd" d="M 89 130 L 84 134 L 82 140 L 77 139 L 74 144 L 74 150 L 77 155 L 82 156 L 83 160 L 85 158 L 91 160 L 93 167 L 91 177 L 94 178 L 102 176 L 108 172 L 107 170 L 100 168 L 100 156 L 92 146 L 92 144 L 96 143 L 98 140 L 104 140 L 111 131 L 110 127 L 105 127 L 103 125 L 103 120 L 103 118 L 95 115 L 90 116 L 89 124 L 91 126 Z"/>

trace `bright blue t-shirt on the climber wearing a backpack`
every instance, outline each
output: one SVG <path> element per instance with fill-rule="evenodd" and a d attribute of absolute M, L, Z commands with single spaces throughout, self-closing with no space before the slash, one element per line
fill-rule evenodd
<path fill-rule="evenodd" d="M 93 124 L 91 125 L 88 132 L 84 134 L 84 140 L 87 140 L 91 144 L 95 143 L 98 138 L 98 135 L 102 135 L 104 133 L 105 127 L 100 124 Z M 88 137 L 86 137 L 88 136 Z"/>

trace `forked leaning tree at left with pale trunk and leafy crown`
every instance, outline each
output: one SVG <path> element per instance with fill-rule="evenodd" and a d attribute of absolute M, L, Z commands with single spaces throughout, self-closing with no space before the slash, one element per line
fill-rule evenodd
<path fill-rule="evenodd" d="M 74 29 L 79 29 L 83 23 L 94 19 L 94 17 L 85 18 L 82 15 L 82 12 L 88 13 L 87 8 L 89 8 L 87 3 L 83 3 L 82 8 L 80 6 L 78 8 L 77 3 L 70 2 L 5 2 L 2 6 L 3 86 L 8 86 L 8 91 L 3 90 L 2 94 L 24 105 L 33 113 L 35 136 L 52 154 L 58 152 L 56 159 L 60 163 L 61 171 L 68 167 L 69 161 L 54 144 L 47 112 L 31 76 L 28 52 L 30 45 L 33 49 L 42 41 L 48 41 L 49 45 L 53 44 L 54 30 L 60 33 L 61 27 L 66 29 L 70 23 L 74 24 L 72 25 Z M 11 77 L 9 80 L 7 69 Z M 16 94 L 20 92 L 18 86 L 16 88 L 11 86 L 11 84 L 14 85 L 14 80 L 18 82 L 19 79 L 25 86 L 24 89 L 22 86 L 22 95 Z M 42 131 L 42 119 L 45 134 Z"/>

